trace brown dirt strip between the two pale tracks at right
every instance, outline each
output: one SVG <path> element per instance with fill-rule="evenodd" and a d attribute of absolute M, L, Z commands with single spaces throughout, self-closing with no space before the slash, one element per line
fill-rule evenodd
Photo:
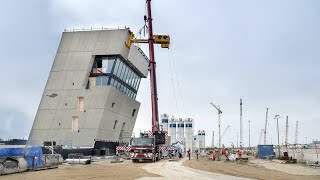
<path fill-rule="evenodd" d="M 320 179 L 320 170 L 319 175 L 293 175 L 281 171 L 270 170 L 256 164 L 247 163 L 247 164 L 237 164 L 234 162 L 222 162 L 222 161 L 211 161 L 209 158 L 200 158 L 199 160 L 190 160 L 184 162 L 185 166 L 209 171 L 214 173 L 222 173 L 232 176 L 253 178 L 253 179 L 274 179 L 274 180 L 319 180 Z M 290 168 L 290 165 L 285 164 L 287 168 Z"/>

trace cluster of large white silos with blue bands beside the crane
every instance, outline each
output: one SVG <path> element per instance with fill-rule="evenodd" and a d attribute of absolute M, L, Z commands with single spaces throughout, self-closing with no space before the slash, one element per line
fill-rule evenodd
<path fill-rule="evenodd" d="M 168 132 L 170 144 L 179 144 L 181 150 L 186 152 L 189 148 L 193 150 L 193 125 L 191 118 L 169 118 L 169 115 L 162 114 L 160 126 L 163 131 Z"/>

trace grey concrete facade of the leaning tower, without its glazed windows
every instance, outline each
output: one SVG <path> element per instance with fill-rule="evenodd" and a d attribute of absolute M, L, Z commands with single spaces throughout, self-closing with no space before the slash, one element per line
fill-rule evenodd
<path fill-rule="evenodd" d="M 126 46 L 128 38 L 128 29 L 62 34 L 28 144 L 93 147 L 95 140 L 129 140 L 140 103 L 111 85 L 87 88 L 101 55 L 119 56 L 140 78 L 147 77 L 148 59 L 138 47 Z"/>

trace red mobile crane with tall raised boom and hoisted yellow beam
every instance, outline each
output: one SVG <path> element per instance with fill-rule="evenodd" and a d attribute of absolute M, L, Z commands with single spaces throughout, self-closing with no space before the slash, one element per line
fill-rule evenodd
<path fill-rule="evenodd" d="M 148 15 L 145 20 L 148 22 L 148 39 L 136 39 L 131 32 L 128 47 L 131 43 L 148 43 L 149 44 L 149 71 L 151 85 L 151 104 L 152 104 L 152 137 L 147 134 L 140 134 L 140 138 L 130 140 L 130 158 L 133 162 L 142 160 L 159 160 L 160 151 L 158 145 L 165 144 L 165 132 L 159 130 L 159 112 L 158 112 L 158 94 L 156 80 L 156 62 L 154 58 L 154 44 L 161 44 L 162 48 L 169 48 L 170 37 L 168 35 L 153 35 L 151 0 L 147 0 Z"/>

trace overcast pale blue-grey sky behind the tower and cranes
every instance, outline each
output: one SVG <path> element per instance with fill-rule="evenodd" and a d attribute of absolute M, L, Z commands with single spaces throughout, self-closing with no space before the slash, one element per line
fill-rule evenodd
<path fill-rule="evenodd" d="M 270 108 L 268 143 L 280 143 L 289 116 L 289 142 L 320 139 L 320 2 L 153 0 L 154 32 L 169 34 L 156 47 L 159 111 L 195 120 L 195 132 L 237 142 L 243 99 L 244 145 L 259 143 Z M 143 25 L 145 0 L 2 1 L 0 6 L 0 138 L 27 138 L 65 28 Z M 143 47 L 147 50 L 146 47 Z M 146 51 L 148 54 L 148 51 Z M 174 85 L 173 85 L 174 84 Z M 141 82 L 135 132 L 151 129 L 149 79 Z"/>

